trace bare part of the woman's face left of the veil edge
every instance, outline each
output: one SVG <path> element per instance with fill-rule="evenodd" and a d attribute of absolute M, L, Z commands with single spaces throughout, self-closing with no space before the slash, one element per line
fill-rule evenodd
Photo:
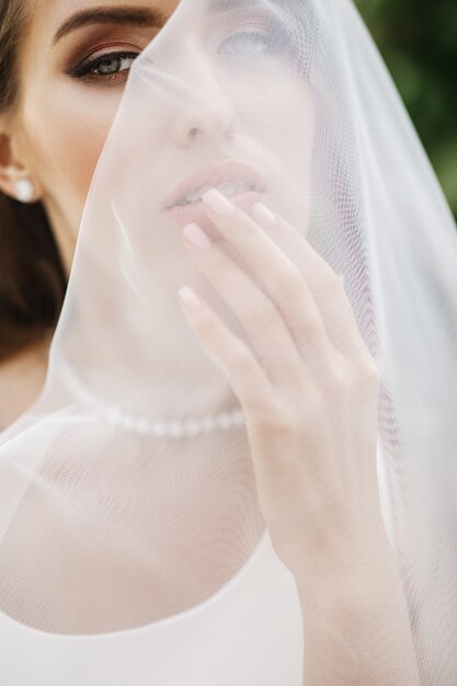
<path fill-rule="evenodd" d="M 27 0 L 25 0 L 27 1 Z M 31 0 L 11 126 L 69 267 L 128 70 L 179 0 Z"/>

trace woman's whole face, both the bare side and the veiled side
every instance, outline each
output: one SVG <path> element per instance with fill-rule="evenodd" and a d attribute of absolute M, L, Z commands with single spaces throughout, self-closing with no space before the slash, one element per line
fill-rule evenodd
<path fill-rule="evenodd" d="M 68 268 L 128 70 L 179 4 L 137 2 L 35 0 L 31 5 L 20 55 L 15 151 L 38 185 Z M 289 180 L 310 178 L 311 96 L 298 73 L 270 54 L 265 36 L 274 28 L 264 11 L 256 12 L 249 3 L 245 10 L 244 3 L 240 8 L 235 3 L 227 11 L 228 3 L 218 3 L 222 7 L 218 14 L 207 12 L 207 0 L 184 2 L 181 15 L 173 18 L 179 21 L 170 39 L 160 43 L 159 36 L 156 56 L 152 50 L 160 56 L 151 72 L 158 96 L 139 128 L 147 134 L 132 144 L 132 149 L 137 148 L 137 171 L 141 171 L 142 148 L 147 149 L 145 173 L 153 163 L 151 209 L 161 226 L 203 222 L 198 203 L 188 201 L 207 182 L 212 185 L 202 171 L 235 159 L 262 170 L 262 179 L 231 168 L 226 174 L 230 179 L 222 174 L 218 185 L 248 173 L 254 185 L 267 187 L 274 209 L 299 220 L 304 187 L 295 193 Z M 163 91 L 167 73 L 172 78 L 165 80 Z M 135 202 L 140 206 L 144 195 Z"/>

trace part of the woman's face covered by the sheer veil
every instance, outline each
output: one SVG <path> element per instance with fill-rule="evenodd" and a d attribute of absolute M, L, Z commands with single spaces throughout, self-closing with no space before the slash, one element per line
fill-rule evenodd
<path fill-rule="evenodd" d="M 187 0 L 135 66 L 92 203 L 108 207 L 98 198 L 110 197 L 116 209 L 111 225 L 110 213 L 92 221 L 105 245 L 119 226 L 133 239 L 132 283 L 141 262 L 162 291 L 194 276 L 180 229 L 197 222 L 218 240 L 201 202 L 213 185 L 307 232 L 316 112 L 283 7 Z"/>

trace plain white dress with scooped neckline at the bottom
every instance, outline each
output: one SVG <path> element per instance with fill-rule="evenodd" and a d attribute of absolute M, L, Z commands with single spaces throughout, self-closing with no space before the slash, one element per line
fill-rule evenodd
<path fill-rule="evenodd" d="M 302 686 L 302 655 L 295 580 L 267 531 L 217 593 L 152 625 L 58 636 L 0 614 L 1 686 Z"/>

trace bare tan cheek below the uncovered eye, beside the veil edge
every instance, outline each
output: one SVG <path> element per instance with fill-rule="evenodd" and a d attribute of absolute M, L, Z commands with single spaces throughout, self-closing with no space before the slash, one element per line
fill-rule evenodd
<path fill-rule="evenodd" d="M 54 85 L 30 104 L 26 142 L 43 191 L 55 204 L 71 203 L 82 210 L 121 96 L 121 88 Z"/>

